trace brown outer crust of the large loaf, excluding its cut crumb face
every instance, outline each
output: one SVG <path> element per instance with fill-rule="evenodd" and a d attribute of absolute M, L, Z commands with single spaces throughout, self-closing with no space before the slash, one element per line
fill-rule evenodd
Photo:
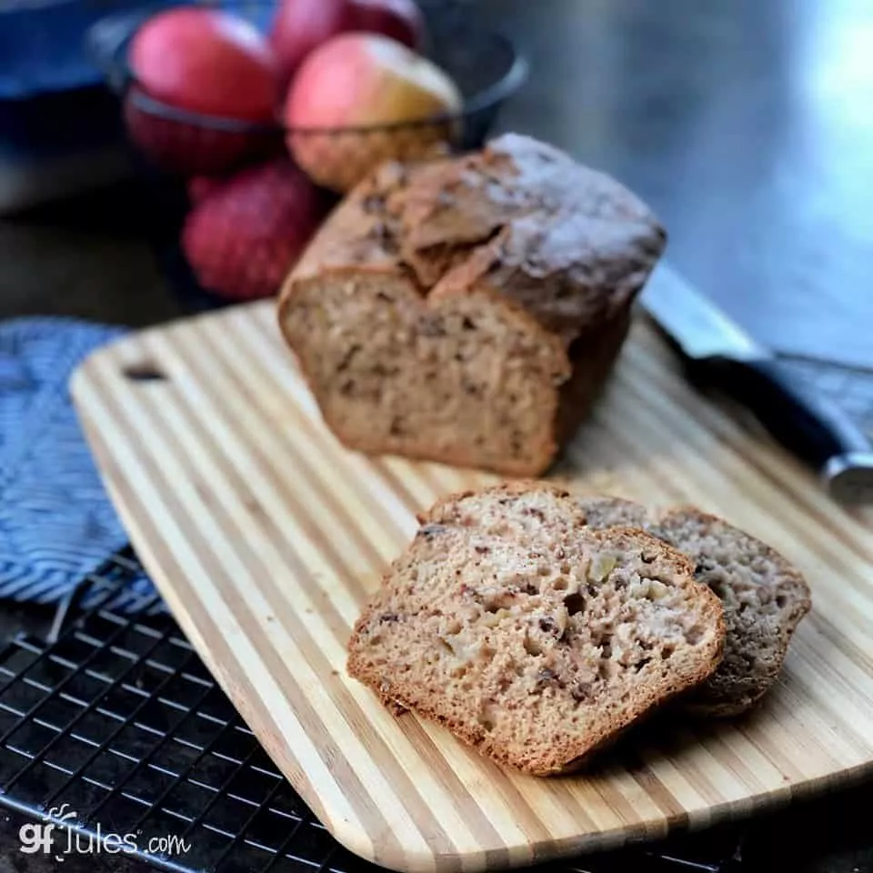
<path fill-rule="evenodd" d="M 346 446 L 538 476 L 607 379 L 634 297 L 665 238 L 647 206 L 614 180 L 551 146 L 505 135 L 475 155 L 383 166 L 357 186 L 288 276 L 279 326 Z M 466 441 L 463 423 L 453 445 L 428 445 L 374 434 L 337 413 L 334 380 L 316 378 L 306 364 L 316 339 L 301 329 L 300 313 L 303 301 L 317 296 L 313 283 L 326 287 L 355 276 L 402 286 L 407 316 L 453 312 L 474 298 L 514 319 L 531 344 L 554 355 L 555 376 L 542 379 L 537 412 L 548 423 L 547 437 L 513 456 Z M 373 412 L 379 414 L 375 405 Z"/>

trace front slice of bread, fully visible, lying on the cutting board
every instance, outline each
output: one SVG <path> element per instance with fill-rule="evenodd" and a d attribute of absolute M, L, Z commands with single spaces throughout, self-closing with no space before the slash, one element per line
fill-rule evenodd
<path fill-rule="evenodd" d="M 704 681 L 725 635 L 687 557 L 584 518 L 543 484 L 440 501 L 358 619 L 349 673 L 502 764 L 579 767 Z"/>

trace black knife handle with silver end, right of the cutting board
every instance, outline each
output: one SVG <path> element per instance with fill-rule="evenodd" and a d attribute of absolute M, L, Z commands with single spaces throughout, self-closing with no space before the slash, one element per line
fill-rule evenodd
<path fill-rule="evenodd" d="M 811 391 L 773 358 L 711 357 L 697 376 L 738 400 L 789 451 L 815 467 L 834 497 L 873 501 L 873 448 L 835 404 Z"/>

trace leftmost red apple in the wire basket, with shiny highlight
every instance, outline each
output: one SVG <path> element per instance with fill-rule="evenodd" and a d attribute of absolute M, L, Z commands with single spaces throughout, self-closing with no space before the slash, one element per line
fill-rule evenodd
<path fill-rule="evenodd" d="M 183 175 L 223 174 L 275 147 L 276 59 L 242 18 L 206 7 L 168 10 L 136 31 L 128 58 L 135 81 L 125 124 L 153 163 Z"/>

